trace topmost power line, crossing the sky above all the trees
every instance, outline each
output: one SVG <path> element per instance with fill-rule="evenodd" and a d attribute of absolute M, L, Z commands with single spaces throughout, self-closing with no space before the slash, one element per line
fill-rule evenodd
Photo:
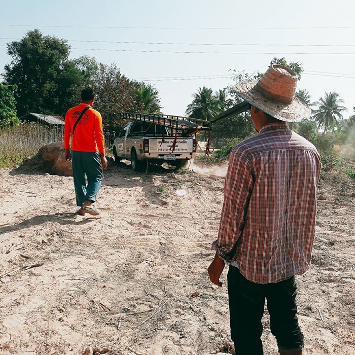
<path fill-rule="evenodd" d="M 152 27 L 152 26 L 75 26 L 75 25 L 19 25 L 0 24 L 8 27 L 55 27 L 55 28 L 118 28 L 118 29 L 207 29 L 207 30 L 241 30 L 241 29 L 354 29 L 355 26 L 314 26 L 314 27 Z"/>

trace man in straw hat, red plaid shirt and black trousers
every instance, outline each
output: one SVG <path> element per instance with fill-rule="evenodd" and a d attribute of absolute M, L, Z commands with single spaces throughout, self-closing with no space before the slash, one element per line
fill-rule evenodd
<path fill-rule="evenodd" d="M 238 355 L 262 355 L 264 303 L 279 353 L 302 354 L 303 334 L 296 316 L 295 275 L 308 270 L 314 241 L 316 187 L 321 159 L 308 140 L 286 122 L 310 117 L 295 95 L 297 74 L 272 65 L 259 80 L 237 84 L 249 103 L 258 135 L 230 154 L 211 282 L 225 261 L 231 337 Z M 286 122 L 285 122 L 286 121 Z"/>

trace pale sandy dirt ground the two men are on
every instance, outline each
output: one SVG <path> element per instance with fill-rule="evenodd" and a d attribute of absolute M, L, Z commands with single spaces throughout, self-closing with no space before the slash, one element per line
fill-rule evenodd
<path fill-rule="evenodd" d="M 0 169 L 0 353 L 233 351 L 227 270 L 222 288 L 206 272 L 225 168 L 194 170 L 139 174 L 110 159 L 101 215 L 82 217 L 72 177 Z M 322 174 L 312 266 L 297 276 L 305 354 L 355 354 L 354 188 L 336 167 Z M 267 311 L 263 324 L 276 355 Z"/>

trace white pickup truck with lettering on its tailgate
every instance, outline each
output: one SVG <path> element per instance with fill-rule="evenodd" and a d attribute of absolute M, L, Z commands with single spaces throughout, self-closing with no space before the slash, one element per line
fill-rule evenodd
<path fill-rule="evenodd" d="M 115 161 L 130 160 L 135 171 L 146 171 L 149 163 L 187 167 L 197 149 L 197 139 L 191 133 L 194 127 L 185 125 L 185 130 L 175 127 L 138 119 L 129 122 L 121 132 L 116 132 Z"/>

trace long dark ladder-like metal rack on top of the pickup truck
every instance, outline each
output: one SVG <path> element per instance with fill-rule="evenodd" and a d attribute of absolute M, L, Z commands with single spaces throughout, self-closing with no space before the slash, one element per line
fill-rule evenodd
<path fill-rule="evenodd" d="M 170 116 L 157 114 L 137 114 L 130 112 L 120 112 L 119 118 L 124 120 L 136 120 L 148 123 L 154 123 L 165 126 L 167 128 L 175 129 L 177 131 L 185 131 L 188 135 L 200 130 L 210 131 L 211 123 L 204 120 L 184 117 L 184 116 Z"/>

